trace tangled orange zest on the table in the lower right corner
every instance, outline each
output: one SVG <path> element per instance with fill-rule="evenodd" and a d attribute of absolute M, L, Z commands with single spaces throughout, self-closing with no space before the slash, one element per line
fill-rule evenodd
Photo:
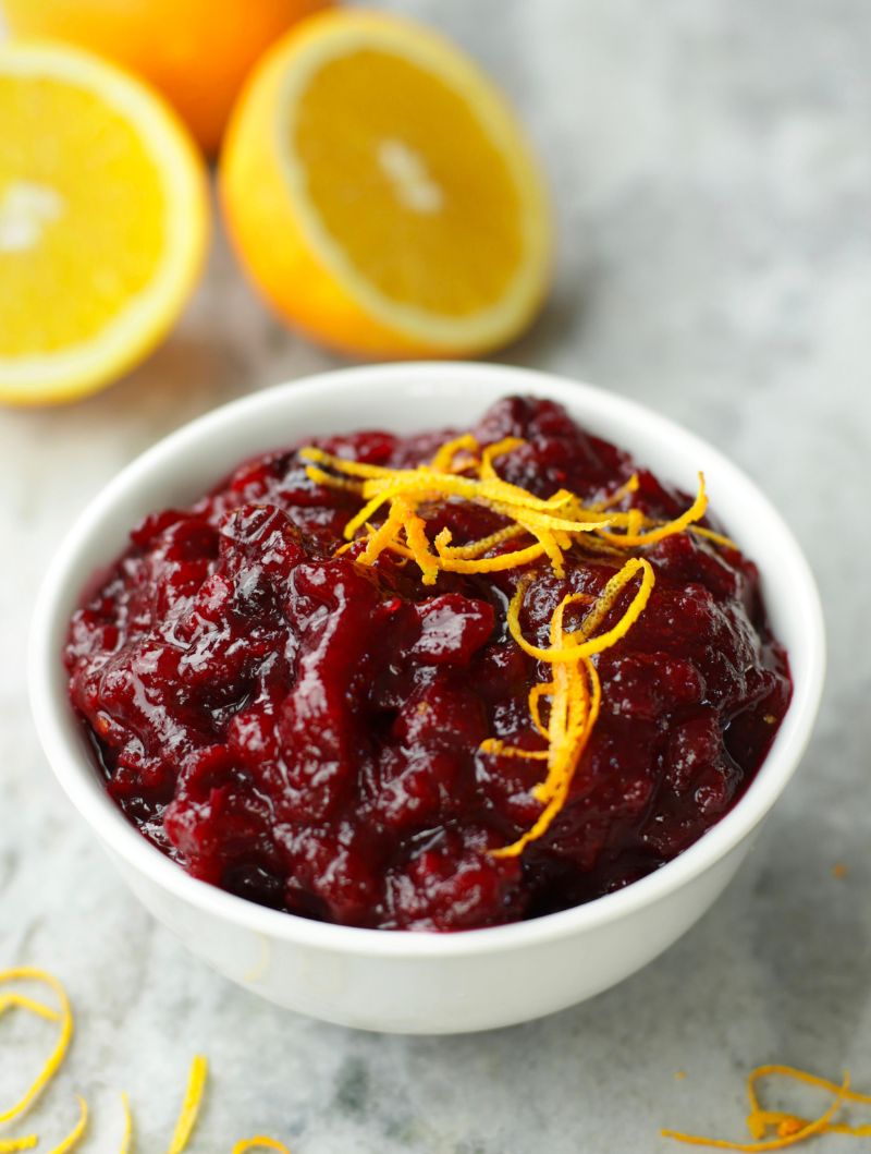
<path fill-rule="evenodd" d="M 764 1109 L 759 1103 L 757 1082 L 760 1079 L 768 1078 L 773 1074 L 803 1082 L 806 1086 L 813 1086 L 816 1088 L 827 1091 L 833 1095 L 832 1104 L 824 1114 L 811 1122 L 806 1118 L 799 1117 L 798 1115 L 789 1114 L 783 1110 Z M 684 1142 L 690 1146 L 708 1146 L 714 1149 L 748 1151 L 752 1154 L 752 1152 L 756 1151 L 787 1149 L 789 1146 L 795 1146 L 808 1138 L 812 1138 L 814 1134 L 821 1133 L 849 1134 L 854 1138 L 866 1138 L 871 1136 L 871 1125 L 850 1126 L 844 1123 L 836 1123 L 832 1121 L 844 1102 L 861 1102 L 866 1106 L 871 1104 L 871 1095 L 859 1094 L 856 1091 L 850 1089 L 850 1079 L 848 1073 L 844 1073 L 843 1081 L 839 1085 L 838 1082 L 829 1081 L 827 1078 L 818 1078 L 816 1074 L 810 1074 L 804 1070 L 797 1070 L 795 1066 L 757 1066 L 756 1070 L 753 1070 L 748 1077 L 748 1097 L 750 1100 L 750 1114 L 748 1115 L 746 1124 L 756 1141 L 729 1141 L 722 1138 L 707 1138 L 700 1134 L 684 1134 L 675 1130 L 663 1130 L 662 1137 L 671 1138 L 675 1141 Z M 766 1138 L 769 1130 L 774 1130 L 776 1137 Z"/>

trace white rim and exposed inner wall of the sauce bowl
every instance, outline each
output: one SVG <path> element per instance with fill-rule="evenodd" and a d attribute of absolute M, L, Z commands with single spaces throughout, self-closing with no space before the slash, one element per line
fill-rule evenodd
<path fill-rule="evenodd" d="M 738 804 L 698 842 L 655 874 L 586 906 L 516 926 L 461 935 L 408 935 L 306 922 L 195 882 L 152 848 L 108 799 L 66 697 L 60 653 L 82 591 L 123 549 L 145 514 L 188 503 L 246 457 L 301 437 L 389 428 L 411 433 L 464 428 L 512 392 L 550 397 L 591 432 L 630 450 L 639 464 L 694 492 L 705 473 L 712 510 L 758 564 L 774 632 L 786 645 L 794 697 L 774 745 Z M 100 837 L 136 868 L 179 896 L 281 937 L 305 936 L 377 952 L 458 952 L 475 943 L 508 945 L 620 916 L 704 870 L 765 816 L 806 744 L 825 668 L 823 620 L 808 564 L 780 516 L 756 486 L 709 444 L 611 394 L 545 374 L 495 365 L 393 365 L 345 369 L 265 390 L 194 421 L 121 472 L 88 507 L 53 561 L 31 636 L 31 702 L 61 785 Z"/>

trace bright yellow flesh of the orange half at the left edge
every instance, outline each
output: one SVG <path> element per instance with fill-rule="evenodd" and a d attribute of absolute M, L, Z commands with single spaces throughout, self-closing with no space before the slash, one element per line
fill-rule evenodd
<path fill-rule="evenodd" d="M 160 179 L 135 129 L 72 82 L 0 76 L 0 125 L 15 129 L 0 133 L 0 357 L 66 350 L 153 278 Z"/>

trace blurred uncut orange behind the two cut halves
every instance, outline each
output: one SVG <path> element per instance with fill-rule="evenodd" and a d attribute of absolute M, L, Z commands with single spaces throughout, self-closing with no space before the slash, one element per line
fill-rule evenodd
<path fill-rule="evenodd" d="M 0 0 L 17 36 L 80 44 L 170 99 L 213 152 L 247 73 L 291 24 L 332 0 Z"/>

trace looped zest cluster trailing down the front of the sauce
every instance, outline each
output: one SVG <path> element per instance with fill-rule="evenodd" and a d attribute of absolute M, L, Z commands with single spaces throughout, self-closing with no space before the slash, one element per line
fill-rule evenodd
<path fill-rule="evenodd" d="M 620 621 L 606 632 L 591 636 L 638 574 L 641 576 L 638 592 Z M 530 691 L 530 713 L 533 725 L 548 742 L 547 777 L 533 789 L 533 797 L 545 808 L 526 833 L 509 846 L 490 850 L 491 856 L 516 857 L 521 854 L 531 841 L 535 841 L 549 829 L 565 804 L 575 771 L 587 747 L 601 706 L 601 682 L 591 657 L 614 645 L 629 632 L 644 612 L 654 582 L 655 575 L 651 563 L 643 557 L 630 557 L 593 601 L 580 625 L 571 632 L 565 630 L 565 610 L 573 605 L 588 604 L 590 599 L 583 593 L 568 594 L 550 619 L 550 645 L 547 649 L 531 645 L 523 636 L 520 609 L 530 583 L 521 580 L 518 585 L 508 610 L 511 636 L 525 652 L 553 666 L 553 681 L 533 685 Z M 542 697 L 550 699 L 547 725 L 541 717 Z M 482 742 L 480 748 L 482 752 L 506 754 L 509 757 L 542 757 L 536 750 L 518 749 L 494 739 Z"/>

